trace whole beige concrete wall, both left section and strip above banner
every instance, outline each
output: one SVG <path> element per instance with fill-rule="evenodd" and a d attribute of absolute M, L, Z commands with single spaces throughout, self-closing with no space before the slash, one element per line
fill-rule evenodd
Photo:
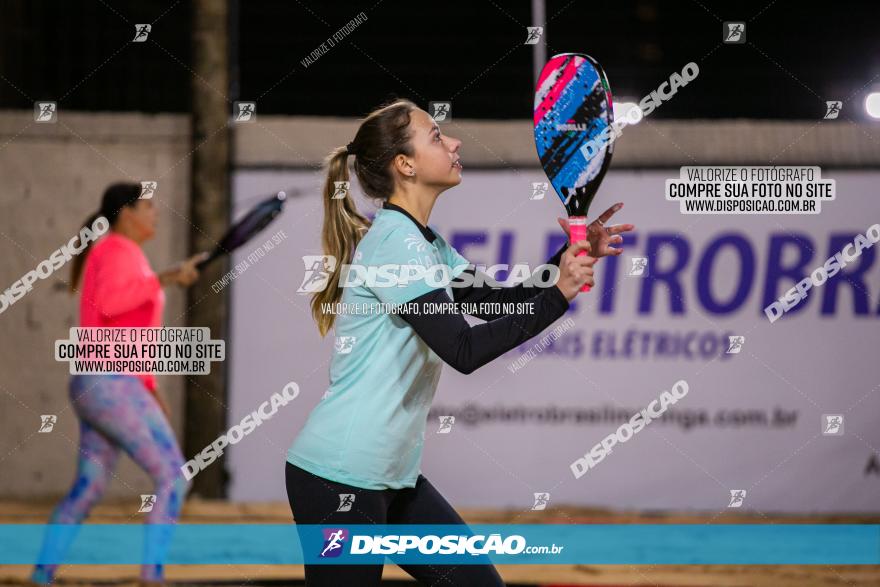
<path fill-rule="evenodd" d="M 356 129 L 350 119 L 260 116 L 237 127 L 236 163 L 317 169 Z M 466 167 L 536 165 L 529 121 L 453 120 L 445 130 L 464 141 Z M 847 121 L 646 120 L 624 131 L 613 165 L 877 167 L 877 135 L 875 126 Z M 62 111 L 56 124 L 36 124 L 30 111 L 0 111 L 0 289 L 67 242 L 116 180 L 159 181 L 159 230 L 146 253 L 157 270 L 184 257 L 191 150 L 186 116 Z M 67 365 L 53 359 L 54 341 L 65 338 L 76 320 L 76 300 L 66 293 L 68 269 L 38 282 L 0 314 L 0 497 L 58 496 L 73 477 L 77 420 L 67 398 Z M 168 293 L 165 323 L 182 325 L 183 294 Z M 159 378 L 178 435 L 182 383 L 180 377 Z M 59 415 L 51 434 L 37 434 L 40 414 Z M 109 495 L 131 499 L 150 487 L 148 477 L 122 459 Z"/>

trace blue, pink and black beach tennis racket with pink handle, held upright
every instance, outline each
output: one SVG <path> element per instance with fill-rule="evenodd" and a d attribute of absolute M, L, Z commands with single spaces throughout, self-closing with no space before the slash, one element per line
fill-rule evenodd
<path fill-rule="evenodd" d="M 587 213 L 614 151 L 613 121 L 611 87 L 602 66 L 582 53 L 550 58 L 535 89 L 535 147 L 568 213 L 573 243 L 587 238 Z"/>

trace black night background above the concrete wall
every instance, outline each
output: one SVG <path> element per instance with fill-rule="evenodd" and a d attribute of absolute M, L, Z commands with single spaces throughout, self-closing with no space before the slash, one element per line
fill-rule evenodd
<path fill-rule="evenodd" d="M 818 119 L 825 100 L 853 106 L 880 85 L 880 4 L 791 0 L 548 0 L 547 55 L 585 52 L 614 94 L 638 100 L 689 61 L 700 76 L 656 118 Z M 532 25 L 527 1 L 235 2 L 231 100 L 260 114 L 363 116 L 391 95 L 427 107 L 452 100 L 463 118 L 528 118 Z M 56 100 L 74 110 L 189 111 L 186 0 L 0 2 L 0 108 Z M 300 61 L 364 11 L 328 54 Z M 722 21 L 747 23 L 744 45 L 722 45 Z M 136 23 L 152 23 L 131 43 Z M 236 26 L 232 27 L 234 33 Z M 235 76 L 233 76 L 235 79 Z"/>

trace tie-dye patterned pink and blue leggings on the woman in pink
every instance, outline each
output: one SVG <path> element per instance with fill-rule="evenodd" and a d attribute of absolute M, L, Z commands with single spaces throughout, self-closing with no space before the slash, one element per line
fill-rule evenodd
<path fill-rule="evenodd" d="M 174 524 L 189 483 L 180 470 L 183 454 L 174 431 L 152 393 L 140 379 L 129 375 L 74 375 L 70 380 L 70 399 L 80 419 L 76 478 L 67 496 L 52 512 L 49 524 L 82 522 L 107 488 L 120 449 L 155 483 L 152 511 L 141 514 L 134 508 L 132 518 L 146 515 L 147 524 Z M 132 490 L 132 493 L 136 492 Z M 140 502 L 139 493 L 132 497 L 133 505 Z M 69 527 L 50 527 L 40 560 L 59 560 L 63 556 L 75 534 L 68 530 Z M 164 552 L 168 540 L 167 527 L 159 532 L 154 529 L 145 541 L 148 550 L 144 555 L 153 558 L 156 553 Z M 31 578 L 35 583 L 51 583 L 57 567 L 57 564 L 38 564 Z M 162 565 L 144 565 L 141 578 L 161 581 Z"/>

